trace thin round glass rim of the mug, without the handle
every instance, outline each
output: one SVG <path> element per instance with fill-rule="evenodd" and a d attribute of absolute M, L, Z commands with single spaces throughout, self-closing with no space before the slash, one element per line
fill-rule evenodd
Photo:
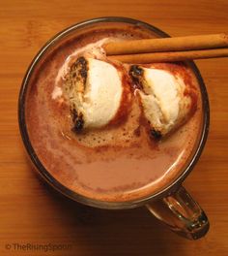
<path fill-rule="evenodd" d="M 187 64 L 189 64 L 191 70 L 193 71 L 200 87 L 201 95 L 202 95 L 202 109 L 203 109 L 203 125 L 202 125 L 202 132 L 200 136 L 200 140 L 198 142 L 198 146 L 194 152 L 194 154 L 191 157 L 191 160 L 185 167 L 185 170 L 177 176 L 174 180 L 172 180 L 170 183 L 168 183 L 166 186 L 164 186 L 161 190 L 157 191 L 154 194 L 148 195 L 146 197 L 132 200 L 132 201 L 125 201 L 125 202 L 106 202 L 106 201 L 100 201 L 96 199 L 87 198 L 83 195 L 77 194 L 76 192 L 72 191 L 67 186 L 63 185 L 60 181 L 58 181 L 54 176 L 52 176 L 43 166 L 42 162 L 40 161 L 39 157 L 37 156 L 32 144 L 30 143 L 30 139 L 27 132 L 26 122 L 25 122 L 25 96 L 27 91 L 27 85 L 30 80 L 31 74 L 33 73 L 33 70 L 35 69 L 36 65 L 39 63 L 40 58 L 43 56 L 45 51 L 51 47 L 55 42 L 58 40 L 61 40 L 62 37 L 65 35 L 68 35 L 72 31 L 83 28 L 86 26 L 90 26 L 95 23 L 101 23 L 101 22 L 125 22 L 132 25 L 139 25 L 143 26 L 153 32 L 155 32 L 157 35 L 161 37 L 170 37 L 168 34 L 163 32 L 162 30 L 158 29 L 154 25 L 151 25 L 147 22 L 140 21 L 138 19 L 129 18 L 129 17 L 123 17 L 123 16 L 103 16 L 103 17 L 96 17 L 87 19 L 84 21 L 81 21 L 79 23 L 75 23 L 71 25 L 70 27 L 62 30 L 61 32 L 57 33 L 55 36 L 53 36 L 49 41 L 45 43 L 43 48 L 39 50 L 37 55 L 33 58 L 30 66 L 28 67 L 26 74 L 24 76 L 24 79 L 22 80 L 19 97 L 18 97 L 18 123 L 19 123 L 19 130 L 20 135 L 23 141 L 23 144 L 26 148 L 26 151 L 32 160 L 33 164 L 35 165 L 38 173 L 43 176 L 43 178 L 56 190 L 64 194 L 65 196 L 71 198 L 72 200 L 90 206 L 95 208 L 136 208 L 143 206 L 149 202 L 151 202 L 154 199 L 158 199 L 163 197 L 164 195 L 167 195 L 174 190 L 177 189 L 177 187 L 185 180 L 185 177 L 189 175 L 191 170 L 193 169 L 194 165 L 197 163 L 203 148 L 206 144 L 208 133 L 209 133 L 209 125 L 210 125 L 210 106 L 209 106 L 209 98 L 208 98 L 208 92 L 204 83 L 204 80 L 202 79 L 200 72 L 193 61 L 187 61 Z"/>

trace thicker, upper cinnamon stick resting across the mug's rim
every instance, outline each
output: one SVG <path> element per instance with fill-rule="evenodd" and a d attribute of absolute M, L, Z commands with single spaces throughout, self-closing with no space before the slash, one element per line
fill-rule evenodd
<path fill-rule="evenodd" d="M 228 47 L 228 35 L 224 33 L 110 42 L 103 46 L 107 55 L 225 47 Z"/>

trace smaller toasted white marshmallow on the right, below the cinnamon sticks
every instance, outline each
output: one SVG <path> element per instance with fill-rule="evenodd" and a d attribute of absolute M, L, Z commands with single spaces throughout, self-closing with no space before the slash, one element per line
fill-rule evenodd
<path fill-rule="evenodd" d="M 181 76 L 135 65 L 129 74 L 140 88 L 143 113 L 153 136 L 159 139 L 184 122 L 190 112 L 191 97 L 184 93 L 186 84 Z"/>

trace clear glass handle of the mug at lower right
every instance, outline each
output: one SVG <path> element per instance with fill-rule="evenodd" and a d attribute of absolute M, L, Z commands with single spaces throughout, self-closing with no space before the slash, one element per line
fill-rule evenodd
<path fill-rule="evenodd" d="M 173 232 L 189 240 L 204 237 L 210 227 L 202 208 L 192 199 L 183 186 L 173 194 L 146 207 Z"/>

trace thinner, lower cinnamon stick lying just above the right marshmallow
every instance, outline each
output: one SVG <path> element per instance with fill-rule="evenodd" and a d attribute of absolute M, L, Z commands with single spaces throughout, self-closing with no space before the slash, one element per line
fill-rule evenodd
<path fill-rule="evenodd" d="M 153 63 L 153 62 L 182 61 L 187 59 L 214 58 L 214 57 L 228 57 L 228 48 L 113 55 L 113 56 L 109 56 L 108 58 L 113 60 L 119 60 L 124 63 L 140 64 L 140 63 Z"/>

